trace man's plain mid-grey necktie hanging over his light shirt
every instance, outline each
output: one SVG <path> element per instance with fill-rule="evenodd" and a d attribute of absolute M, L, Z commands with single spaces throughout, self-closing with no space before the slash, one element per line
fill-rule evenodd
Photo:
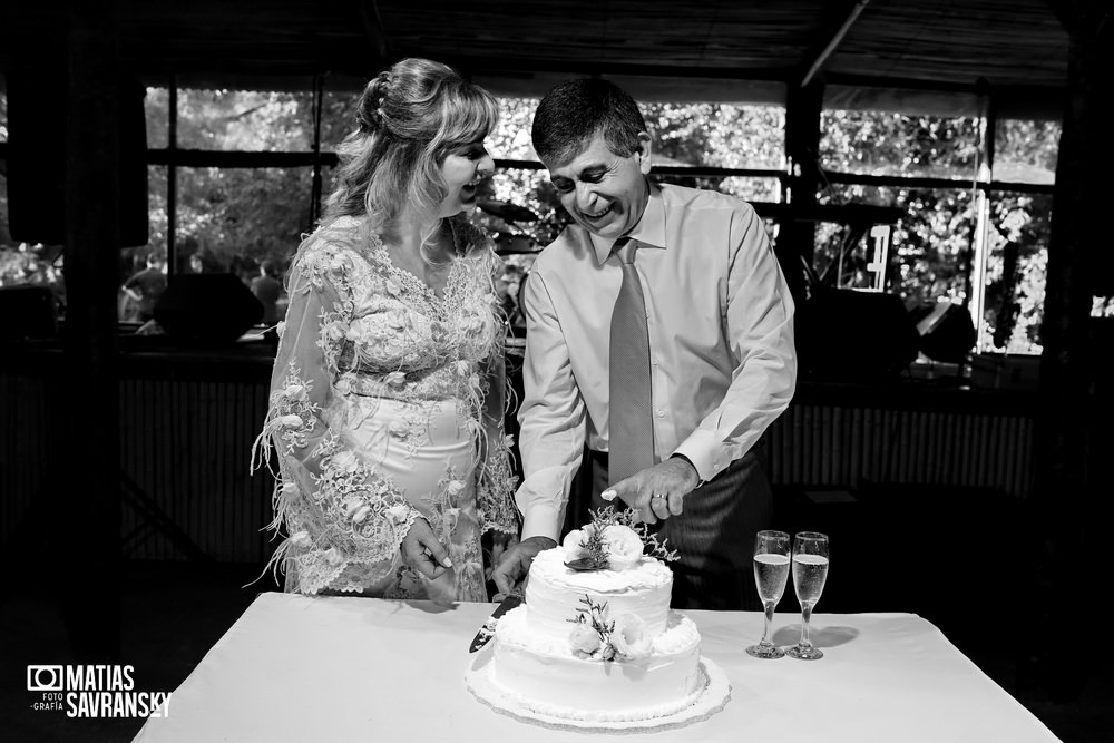
<path fill-rule="evenodd" d="M 612 312 L 609 349 L 607 479 L 612 483 L 654 465 L 649 332 L 634 267 L 637 250 L 636 241 L 624 237 L 613 248 L 623 264 L 623 286 Z"/>

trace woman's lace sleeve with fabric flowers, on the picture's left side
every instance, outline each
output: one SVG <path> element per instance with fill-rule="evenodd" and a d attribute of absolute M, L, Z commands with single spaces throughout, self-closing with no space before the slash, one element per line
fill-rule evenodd
<path fill-rule="evenodd" d="M 329 244 L 300 253 L 286 321 L 280 325 L 266 423 L 253 456 L 257 467 L 271 465 L 272 446 L 277 453 L 271 528 L 285 538 L 272 564 L 285 569 L 287 590 L 305 594 L 316 594 L 343 575 L 385 577 L 399 564 L 399 546 L 419 518 L 403 493 L 358 457 L 345 444 L 343 429 L 330 421 L 338 394 L 333 384 L 351 363 L 345 338 L 354 257 Z"/>

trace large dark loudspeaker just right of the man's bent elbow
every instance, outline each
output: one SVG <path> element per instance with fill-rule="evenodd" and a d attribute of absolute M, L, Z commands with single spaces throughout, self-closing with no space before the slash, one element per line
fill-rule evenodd
<path fill-rule="evenodd" d="M 901 297 L 817 289 L 797 313 L 797 355 L 805 375 L 869 381 L 903 371 L 920 336 Z"/>

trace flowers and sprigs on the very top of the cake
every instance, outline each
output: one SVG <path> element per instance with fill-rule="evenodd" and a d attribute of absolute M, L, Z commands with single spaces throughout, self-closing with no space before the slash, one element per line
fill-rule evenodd
<path fill-rule="evenodd" d="M 624 570 L 634 567 L 643 555 L 672 563 L 676 550 L 658 541 L 645 524 L 636 522 L 633 510 L 616 511 L 605 506 L 590 511 L 592 521 L 565 536 L 565 565 L 574 570 Z"/>

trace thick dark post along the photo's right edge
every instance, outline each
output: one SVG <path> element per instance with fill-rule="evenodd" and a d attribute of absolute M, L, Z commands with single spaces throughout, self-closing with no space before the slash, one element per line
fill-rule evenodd
<path fill-rule="evenodd" d="M 1094 560 L 1106 549 L 1110 496 L 1107 452 L 1092 450 L 1108 436 L 1093 392 L 1098 374 L 1091 338 L 1092 296 L 1108 293 L 1111 266 L 1107 212 L 1111 187 L 1110 76 L 1112 19 L 1100 0 L 1052 3 L 1068 31 L 1067 105 L 1056 165 L 1056 189 L 1048 246 L 1045 313 L 1040 340 L 1040 408 L 1036 429 L 1036 514 L 1044 536 L 1040 606 L 1045 636 L 1063 629 L 1063 613 L 1092 604 Z M 1095 251 L 1102 251 L 1097 254 Z M 1105 284 L 1105 291 L 1103 290 Z M 1108 394 L 1108 392 L 1107 392 Z M 1102 458 L 1102 459 L 1101 459 Z M 1097 466 L 1097 467 L 1095 467 Z M 1037 629 L 1042 632 L 1042 629 Z M 1054 701 L 1082 692 L 1094 667 L 1085 653 L 1045 644 L 1044 677 Z"/>

